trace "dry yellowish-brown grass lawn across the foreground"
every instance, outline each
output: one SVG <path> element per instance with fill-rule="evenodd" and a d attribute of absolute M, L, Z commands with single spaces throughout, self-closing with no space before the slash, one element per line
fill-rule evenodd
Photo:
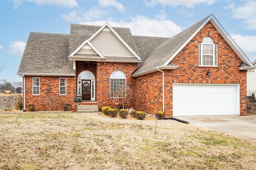
<path fill-rule="evenodd" d="M 0 113 L 0 168 L 255 169 L 256 142 L 176 121 L 155 127 L 71 112 Z"/>

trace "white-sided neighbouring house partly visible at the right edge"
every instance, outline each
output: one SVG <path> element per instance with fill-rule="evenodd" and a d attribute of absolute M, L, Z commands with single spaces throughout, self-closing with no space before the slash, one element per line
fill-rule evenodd
<path fill-rule="evenodd" d="M 256 60 L 252 62 L 252 64 L 256 65 Z M 247 96 L 251 97 L 253 94 L 255 96 L 256 92 L 256 72 L 254 70 L 247 70 Z"/>

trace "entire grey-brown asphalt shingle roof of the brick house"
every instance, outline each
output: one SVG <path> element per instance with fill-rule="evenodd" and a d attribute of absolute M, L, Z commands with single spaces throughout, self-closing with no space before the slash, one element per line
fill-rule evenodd
<path fill-rule="evenodd" d="M 211 16 L 211 15 L 210 15 Z M 182 49 L 192 35 L 209 19 L 204 18 L 172 38 L 134 36 L 129 28 L 112 27 L 116 33 L 142 59 L 133 75 L 141 75 L 164 64 L 174 66 L 170 61 Z M 31 32 L 24 50 L 18 74 L 75 74 L 73 61 L 68 56 L 84 41 L 90 39 L 101 27 L 94 25 L 70 25 L 70 35 Z M 76 55 L 74 55 L 76 56 Z M 79 55 L 82 57 L 83 55 Z M 88 57 L 84 55 L 84 57 Z M 90 57 L 90 56 L 89 56 Z M 99 57 L 95 55 L 94 57 Z M 106 61 L 139 62 L 136 57 L 105 57 Z M 170 61 L 167 63 L 167 61 Z"/>

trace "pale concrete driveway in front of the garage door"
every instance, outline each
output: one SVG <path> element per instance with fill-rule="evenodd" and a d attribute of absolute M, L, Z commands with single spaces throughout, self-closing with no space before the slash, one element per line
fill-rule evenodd
<path fill-rule="evenodd" d="M 205 127 L 256 141 L 256 116 L 179 116 L 190 125 Z"/>

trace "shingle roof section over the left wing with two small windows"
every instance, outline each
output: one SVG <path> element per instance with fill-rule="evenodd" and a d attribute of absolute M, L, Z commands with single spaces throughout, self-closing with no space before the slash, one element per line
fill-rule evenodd
<path fill-rule="evenodd" d="M 75 74 L 68 46 L 69 35 L 31 32 L 18 74 Z"/>

